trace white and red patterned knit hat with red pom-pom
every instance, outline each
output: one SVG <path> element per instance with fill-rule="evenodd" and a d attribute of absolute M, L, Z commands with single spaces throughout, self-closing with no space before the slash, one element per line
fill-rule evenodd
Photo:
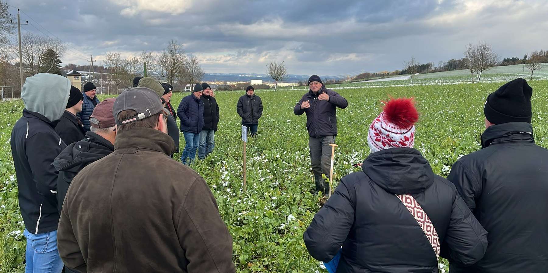
<path fill-rule="evenodd" d="M 369 126 L 367 143 L 372 153 L 383 149 L 408 147 L 415 142 L 415 123 L 419 113 L 413 98 L 392 98 L 384 102 L 383 112 Z"/>

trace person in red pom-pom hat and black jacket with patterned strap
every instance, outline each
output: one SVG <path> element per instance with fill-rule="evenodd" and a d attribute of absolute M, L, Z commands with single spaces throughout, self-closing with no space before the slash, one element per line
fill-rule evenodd
<path fill-rule="evenodd" d="M 438 255 L 469 266 L 487 231 L 447 179 L 413 149 L 413 99 L 387 102 L 369 127 L 362 171 L 343 177 L 304 233 L 313 258 L 336 272 L 438 272 Z M 341 248 L 342 246 L 342 248 Z"/>

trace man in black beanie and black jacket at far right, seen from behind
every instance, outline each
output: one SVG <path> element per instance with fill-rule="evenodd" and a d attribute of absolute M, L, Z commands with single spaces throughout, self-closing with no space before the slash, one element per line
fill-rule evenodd
<path fill-rule="evenodd" d="M 482 260 L 452 273 L 544 272 L 548 266 L 548 150 L 533 138 L 531 96 L 515 79 L 487 96 L 482 149 L 455 162 L 447 179 L 488 231 Z"/>

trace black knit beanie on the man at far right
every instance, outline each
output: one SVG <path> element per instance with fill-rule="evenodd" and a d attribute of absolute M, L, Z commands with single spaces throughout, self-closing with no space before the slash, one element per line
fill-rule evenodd
<path fill-rule="evenodd" d="M 522 78 L 500 86 L 487 96 L 483 113 L 493 124 L 526 122 L 531 123 L 531 96 L 533 89 Z"/>

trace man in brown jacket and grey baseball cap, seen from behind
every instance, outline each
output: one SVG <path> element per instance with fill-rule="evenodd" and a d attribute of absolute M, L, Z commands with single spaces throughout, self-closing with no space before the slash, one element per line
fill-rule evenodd
<path fill-rule="evenodd" d="M 173 160 L 158 95 L 120 94 L 114 152 L 84 167 L 68 188 L 59 253 L 79 272 L 233 273 L 232 237 L 206 181 Z"/>

